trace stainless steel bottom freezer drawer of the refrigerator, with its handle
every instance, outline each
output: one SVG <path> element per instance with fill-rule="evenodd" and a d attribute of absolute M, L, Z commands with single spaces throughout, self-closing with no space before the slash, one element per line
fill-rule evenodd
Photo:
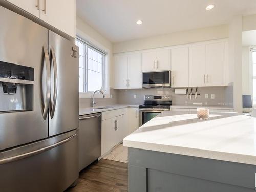
<path fill-rule="evenodd" d="M 0 190 L 64 191 L 78 178 L 77 130 L 0 153 Z"/>

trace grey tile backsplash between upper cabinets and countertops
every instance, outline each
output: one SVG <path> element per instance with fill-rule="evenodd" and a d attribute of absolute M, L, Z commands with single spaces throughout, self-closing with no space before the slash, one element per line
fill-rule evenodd
<path fill-rule="evenodd" d="M 188 92 L 190 93 L 190 89 Z M 193 88 L 195 93 L 196 88 Z M 129 89 L 129 90 L 114 90 L 110 89 L 112 98 L 96 98 L 96 106 L 112 105 L 112 104 L 143 104 L 144 95 L 157 95 L 166 94 L 172 95 L 173 105 L 192 105 L 193 103 L 202 103 L 203 105 L 210 106 L 233 106 L 233 86 L 220 86 L 220 87 L 199 87 L 197 92 L 197 99 L 194 95 L 191 100 L 186 100 L 186 95 L 178 95 L 174 93 L 174 88 L 155 88 L 155 89 Z M 208 94 L 209 98 L 205 98 L 205 94 Z M 211 94 L 215 95 L 214 99 L 211 99 Z M 136 98 L 134 98 L 136 95 Z M 92 102 L 91 98 L 80 98 L 80 108 L 90 107 Z"/>

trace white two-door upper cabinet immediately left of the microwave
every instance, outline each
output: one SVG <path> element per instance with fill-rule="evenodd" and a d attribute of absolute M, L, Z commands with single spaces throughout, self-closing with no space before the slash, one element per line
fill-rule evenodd
<path fill-rule="evenodd" d="M 115 60 L 115 89 L 142 88 L 141 53 L 117 55 Z"/>

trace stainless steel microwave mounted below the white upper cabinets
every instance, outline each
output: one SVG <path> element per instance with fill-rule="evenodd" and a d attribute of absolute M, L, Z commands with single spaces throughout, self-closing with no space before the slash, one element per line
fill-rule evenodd
<path fill-rule="evenodd" d="M 170 71 L 143 72 L 142 87 L 143 88 L 169 88 Z"/>

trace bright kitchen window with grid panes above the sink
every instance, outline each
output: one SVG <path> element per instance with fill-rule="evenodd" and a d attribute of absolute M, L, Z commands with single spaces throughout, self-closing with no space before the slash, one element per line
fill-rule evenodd
<path fill-rule="evenodd" d="M 105 55 L 100 49 L 76 38 L 79 47 L 79 92 L 90 93 L 104 89 Z"/>

